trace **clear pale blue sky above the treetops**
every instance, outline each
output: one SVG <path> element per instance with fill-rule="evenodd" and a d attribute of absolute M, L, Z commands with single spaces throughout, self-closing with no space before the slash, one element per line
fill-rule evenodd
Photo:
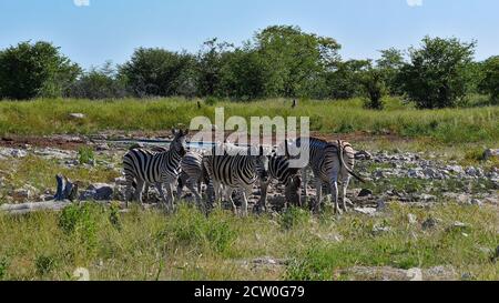
<path fill-rule="evenodd" d="M 481 60 L 499 54 L 498 12 L 497 0 L 0 0 L 0 48 L 51 41 L 88 68 L 122 63 L 138 47 L 196 51 L 208 38 L 240 43 L 296 24 L 335 38 L 345 59 L 429 34 L 476 39 Z"/>

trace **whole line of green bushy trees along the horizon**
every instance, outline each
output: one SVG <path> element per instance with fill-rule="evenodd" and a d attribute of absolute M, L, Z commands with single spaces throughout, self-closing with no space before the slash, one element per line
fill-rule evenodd
<path fill-rule="evenodd" d="M 206 41 L 197 53 L 136 49 L 122 65 L 83 71 L 48 42 L 0 50 L 0 98 L 149 98 L 184 95 L 246 101 L 263 98 L 348 99 L 383 109 L 386 94 L 417 108 L 456 107 L 470 93 L 499 100 L 499 57 L 473 61 L 476 42 L 422 39 L 420 47 L 343 60 L 333 38 L 274 26 L 242 46 Z"/>

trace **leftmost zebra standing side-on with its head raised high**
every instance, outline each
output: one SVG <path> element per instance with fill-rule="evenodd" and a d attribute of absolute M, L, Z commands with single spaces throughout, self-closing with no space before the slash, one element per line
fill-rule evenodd
<path fill-rule="evenodd" d="M 126 179 L 126 208 L 135 188 L 134 199 L 142 204 L 142 192 L 145 185 L 154 184 L 163 199 L 166 209 L 173 210 L 173 184 L 181 173 L 181 160 L 186 153 L 185 137 L 189 130 L 172 130 L 174 137 L 169 151 L 151 152 L 144 149 L 130 150 L 123 156 Z M 166 185 L 167 196 L 163 191 Z"/>

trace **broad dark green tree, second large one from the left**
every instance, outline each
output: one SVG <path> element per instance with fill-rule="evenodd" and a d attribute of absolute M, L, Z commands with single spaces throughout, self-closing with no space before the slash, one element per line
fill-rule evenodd
<path fill-rule="evenodd" d="M 126 79 L 128 87 L 138 97 L 169 97 L 179 94 L 182 75 L 192 65 L 193 58 L 187 53 L 140 48 L 120 68 L 120 77 Z"/>

